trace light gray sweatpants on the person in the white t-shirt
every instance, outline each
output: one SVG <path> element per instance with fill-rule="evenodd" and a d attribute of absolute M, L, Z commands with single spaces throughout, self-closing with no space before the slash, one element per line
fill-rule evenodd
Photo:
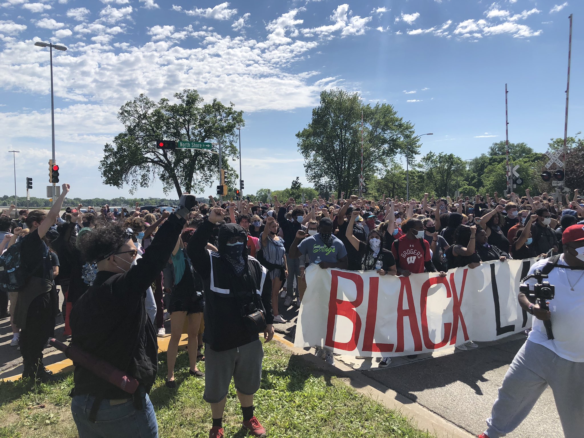
<path fill-rule="evenodd" d="M 486 420 L 489 438 L 515 430 L 550 385 L 565 438 L 581 438 L 584 431 L 584 362 L 572 362 L 552 350 L 526 340 L 499 388 L 499 397 Z"/>

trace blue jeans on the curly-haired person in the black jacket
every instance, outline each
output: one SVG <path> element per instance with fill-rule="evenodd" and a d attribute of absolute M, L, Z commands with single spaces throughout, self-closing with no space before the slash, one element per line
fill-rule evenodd
<path fill-rule="evenodd" d="M 131 398 L 124 402 L 103 399 L 95 423 L 89 420 L 95 397 L 75 395 L 71 401 L 71 413 L 79 438 L 158 438 L 154 406 L 144 388 L 140 387 L 138 391 L 141 391 L 142 409 L 137 410 Z"/>

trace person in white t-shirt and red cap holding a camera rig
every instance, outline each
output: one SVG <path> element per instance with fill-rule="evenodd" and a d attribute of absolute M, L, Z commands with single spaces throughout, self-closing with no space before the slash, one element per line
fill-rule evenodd
<path fill-rule="evenodd" d="M 584 225 L 566 228 L 562 244 L 562 255 L 539 260 L 529 271 L 530 275 L 538 270 L 547 274 L 550 285 L 555 286 L 554 298 L 545 301 L 549 310 L 533 303 L 536 288 L 542 290 L 541 284 L 534 287 L 536 279 L 525 282 L 529 292 L 519 293 L 519 304 L 533 315 L 532 330 L 505 374 L 491 418 L 486 420 L 488 428 L 480 438 L 499 438 L 515 430 L 548 385 L 554 392 L 565 437 L 582 436 L 584 337 L 576 328 L 584 314 Z M 550 297 L 550 289 L 545 289 Z M 552 336 L 548 336 L 546 321 L 551 321 Z"/>

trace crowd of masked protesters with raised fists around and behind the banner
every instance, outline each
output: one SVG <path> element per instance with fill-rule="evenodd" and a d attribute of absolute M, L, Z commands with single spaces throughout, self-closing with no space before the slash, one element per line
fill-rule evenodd
<path fill-rule="evenodd" d="M 11 206 L 0 216 L 1 250 L 19 245 L 28 275 L 23 287 L 2 287 L 0 312 L 11 317 L 11 345 L 22 354 L 24 378 L 50 378 L 43 348 L 61 313 L 64 335 L 72 336 L 74 345 L 140 382 L 127 397 L 76 364 L 71 409 L 81 437 L 124 436 L 123 418 L 130 412 L 141 436 L 157 436 L 148 392 L 157 373 L 157 336 L 166 336 L 168 318 L 166 386 L 176 387 L 176 354 L 185 327 L 189 372 L 206 380 L 210 437 L 223 436 L 232 377 L 244 427 L 253 436 L 266 436 L 253 415 L 263 357 L 258 333 L 269 341 L 272 324 L 287 322 L 283 310 L 300 307 L 308 266 L 446 276 L 456 267 L 561 253 L 562 232 L 584 224 L 578 190 L 564 203 L 547 193 L 531 197 L 529 190 L 523 197 L 495 193 L 458 199 L 426 193 L 421 200 L 345 199 L 344 193 L 309 201 L 274 196 L 269 203 L 221 203 L 211 196 L 199 203 L 183 195 L 175 208 L 142 210 L 137 203 L 128 211 L 106 205 L 98 213 L 79 204 L 61 214 L 68 191 L 63 185 L 48 213 L 20 210 L 12 218 Z M 61 308 L 57 286 L 64 295 Z M 317 354 L 334 363 L 332 353 Z M 197 367 L 201 360 L 206 374 Z M 390 362 L 384 357 L 380 367 Z M 111 402 L 119 400 L 120 420 L 100 422 L 113 415 Z"/>

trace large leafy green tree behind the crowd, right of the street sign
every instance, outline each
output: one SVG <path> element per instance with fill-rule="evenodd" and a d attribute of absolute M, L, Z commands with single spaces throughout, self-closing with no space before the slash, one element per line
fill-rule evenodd
<path fill-rule="evenodd" d="M 393 106 L 363 105 L 358 93 L 341 89 L 321 92 L 308 126 L 296 134 L 308 180 L 350 193 L 361 173 L 361 112 L 363 114 L 363 173 L 374 178 L 396 152 L 418 153 L 413 124 L 398 117 Z"/>

